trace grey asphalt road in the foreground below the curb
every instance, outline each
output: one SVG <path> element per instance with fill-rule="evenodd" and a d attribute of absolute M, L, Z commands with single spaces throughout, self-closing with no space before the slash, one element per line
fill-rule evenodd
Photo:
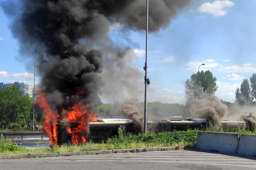
<path fill-rule="evenodd" d="M 219 152 L 154 151 L 48 158 L 2 159 L 1 169 L 255 170 L 256 157 Z"/>

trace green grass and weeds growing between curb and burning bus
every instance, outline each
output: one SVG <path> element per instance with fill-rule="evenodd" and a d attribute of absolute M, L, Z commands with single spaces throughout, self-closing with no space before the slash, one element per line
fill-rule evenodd
<path fill-rule="evenodd" d="M 212 124 L 208 124 L 204 131 L 215 131 Z M 167 147 L 188 145 L 189 147 L 196 146 L 198 130 L 188 129 L 187 131 L 172 131 L 162 132 L 158 134 L 150 133 L 145 135 L 132 135 L 131 133 L 124 134 L 122 130 L 118 131 L 118 136 L 109 138 L 106 144 L 86 143 L 85 145 L 62 145 L 47 147 L 37 147 L 36 149 L 26 149 L 23 146 L 12 145 L 14 139 L 4 139 L 3 135 L 0 137 L 0 155 L 9 154 L 32 154 L 32 153 L 60 153 L 60 152 L 78 152 L 78 151 L 100 151 L 112 149 L 128 149 L 128 148 L 148 148 L 148 147 Z M 220 128 L 220 132 L 229 132 Z M 237 127 L 231 130 L 230 133 L 253 134 L 256 131 L 249 131 Z M 40 141 L 37 142 L 40 145 Z"/>

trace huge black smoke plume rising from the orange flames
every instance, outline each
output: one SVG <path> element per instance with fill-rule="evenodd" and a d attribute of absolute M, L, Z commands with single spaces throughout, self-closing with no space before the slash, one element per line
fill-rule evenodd
<path fill-rule="evenodd" d="M 189 3 L 189 0 L 149 1 L 149 31 L 166 27 Z M 18 40 L 20 56 L 24 60 L 24 56 L 28 56 L 32 64 L 34 50 L 38 51 L 36 68 L 41 91 L 46 93 L 51 109 L 58 114 L 60 110 L 64 114 L 64 110 L 77 101 L 92 110 L 99 102 L 99 92 L 104 94 L 104 83 L 120 77 L 118 73 L 100 76 L 104 69 L 116 67 L 118 69 L 111 71 L 118 72 L 124 68 L 122 59 L 130 49 L 119 47 L 108 37 L 112 23 L 120 23 L 127 30 L 146 28 L 145 0 L 6 0 L 1 6 L 11 19 L 10 27 Z M 137 71 L 127 74 L 127 80 L 140 73 L 138 68 L 129 69 Z M 143 76 L 141 78 L 143 80 Z M 121 93 L 115 84 L 108 87 L 114 89 L 110 92 Z M 123 88 L 132 93 L 135 87 Z"/>

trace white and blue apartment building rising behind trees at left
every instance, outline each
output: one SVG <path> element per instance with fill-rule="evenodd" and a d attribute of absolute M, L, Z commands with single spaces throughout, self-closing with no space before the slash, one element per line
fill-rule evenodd
<path fill-rule="evenodd" d="M 0 83 L 0 88 L 5 88 L 7 86 L 13 86 L 13 85 L 16 85 L 16 86 L 20 86 L 20 91 L 23 92 L 23 94 L 28 94 L 30 97 L 33 96 L 33 84 L 32 83 L 28 83 L 28 82 L 21 82 L 21 81 L 17 81 L 17 82 L 14 82 L 14 83 Z"/>

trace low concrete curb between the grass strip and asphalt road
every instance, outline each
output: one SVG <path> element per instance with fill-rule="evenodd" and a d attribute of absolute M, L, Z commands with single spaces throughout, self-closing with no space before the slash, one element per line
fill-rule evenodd
<path fill-rule="evenodd" d="M 94 154 L 110 154 L 110 153 L 171 151 L 171 150 L 182 150 L 182 149 L 188 149 L 188 146 L 129 148 L 129 149 L 113 149 L 113 150 L 102 150 L 102 151 L 81 151 L 81 152 L 60 152 L 60 153 L 31 153 L 31 154 L 20 154 L 20 155 L 0 155 L 0 159 L 46 158 L 46 157 L 57 157 L 57 156 L 94 155 Z"/>

